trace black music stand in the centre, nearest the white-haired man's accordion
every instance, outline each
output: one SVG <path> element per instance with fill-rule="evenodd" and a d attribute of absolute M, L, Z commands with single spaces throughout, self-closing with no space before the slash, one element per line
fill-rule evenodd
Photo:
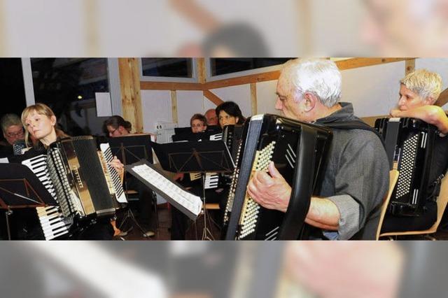
<path fill-rule="evenodd" d="M 174 173 L 202 173 L 202 195 L 204 199 L 204 230 L 202 240 L 214 239 L 207 227 L 205 197 L 205 174 L 231 172 L 235 164 L 223 141 L 201 141 L 183 143 L 152 143 L 162 169 Z"/>

